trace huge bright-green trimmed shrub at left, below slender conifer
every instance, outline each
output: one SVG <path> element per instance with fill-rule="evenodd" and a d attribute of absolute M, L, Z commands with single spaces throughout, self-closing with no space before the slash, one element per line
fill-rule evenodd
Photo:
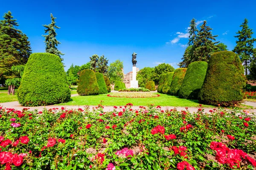
<path fill-rule="evenodd" d="M 23 106 L 68 102 L 70 89 L 60 57 L 49 53 L 31 54 L 17 91 L 17 98 Z"/>

